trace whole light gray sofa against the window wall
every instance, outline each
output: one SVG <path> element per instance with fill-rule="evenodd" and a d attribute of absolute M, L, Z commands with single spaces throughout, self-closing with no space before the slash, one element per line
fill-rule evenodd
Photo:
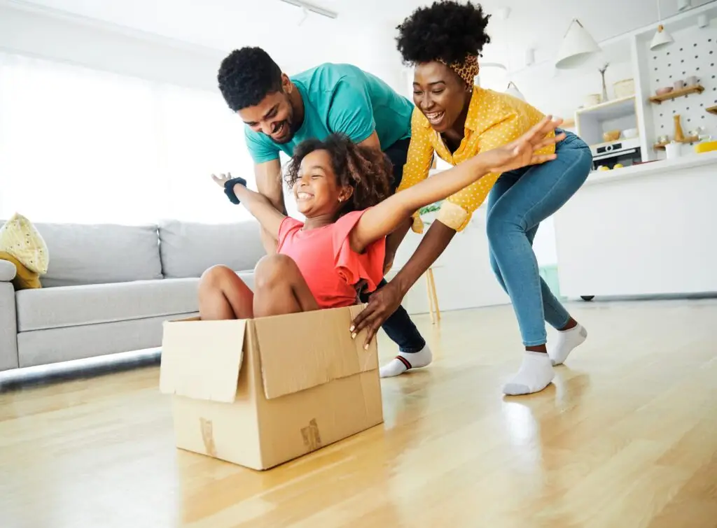
<path fill-rule="evenodd" d="M 159 347 L 163 321 L 196 315 L 205 269 L 225 264 L 253 287 L 265 254 L 254 221 L 35 226 L 43 287 L 15 292 L 15 267 L 0 261 L 0 370 Z"/>

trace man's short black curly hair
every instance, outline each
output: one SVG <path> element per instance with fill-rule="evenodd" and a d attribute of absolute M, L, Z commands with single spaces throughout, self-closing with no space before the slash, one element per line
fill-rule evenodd
<path fill-rule="evenodd" d="M 279 92 L 281 68 L 260 47 L 243 47 L 234 49 L 222 60 L 217 81 L 227 105 L 237 112 Z"/>

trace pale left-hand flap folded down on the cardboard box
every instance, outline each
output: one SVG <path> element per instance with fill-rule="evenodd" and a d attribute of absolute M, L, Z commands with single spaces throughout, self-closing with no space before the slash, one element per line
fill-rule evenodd
<path fill-rule="evenodd" d="M 168 321 L 162 337 L 159 390 L 231 403 L 237 394 L 246 321 Z"/>

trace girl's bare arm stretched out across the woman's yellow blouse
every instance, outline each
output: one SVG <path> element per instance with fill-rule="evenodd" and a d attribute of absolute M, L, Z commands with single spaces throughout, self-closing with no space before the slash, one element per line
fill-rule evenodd
<path fill-rule="evenodd" d="M 504 173 L 526 165 L 545 163 L 555 154 L 537 155 L 536 151 L 558 143 L 565 135 L 546 135 L 562 120 L 546 116 L 520 138 L 499 148 L 486 150 L 421 183 L 386 198 L 361 216 L 351 231 L 351 249 L 361 253 L 369 244 L 394 231 L 414 211 L 460 191 L 489 173 Z"/>

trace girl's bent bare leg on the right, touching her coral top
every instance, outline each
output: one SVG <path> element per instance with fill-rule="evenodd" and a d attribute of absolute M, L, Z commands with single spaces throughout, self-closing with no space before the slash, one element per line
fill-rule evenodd
<path fill-rule="evenodd" d="M 265 256 L 254 271 L 254 317 L 318 309 L 295 261 L 286 255 Z"/>

